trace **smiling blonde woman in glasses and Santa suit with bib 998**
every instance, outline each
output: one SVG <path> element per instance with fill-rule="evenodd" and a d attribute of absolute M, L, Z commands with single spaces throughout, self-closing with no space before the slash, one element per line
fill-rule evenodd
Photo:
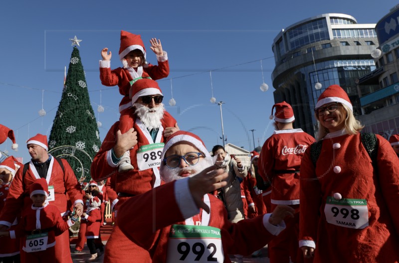
<path fill-rule="evenodd" d="M 394 150 L 380 135 L 360 134 L 363 126 L 340 86 L 328 87 L 315 108 L 319 141 L 301 163 L 299 246 L 304 256 L 314 257 L 314 263 L 398 262 L 399 161 Z"/>

